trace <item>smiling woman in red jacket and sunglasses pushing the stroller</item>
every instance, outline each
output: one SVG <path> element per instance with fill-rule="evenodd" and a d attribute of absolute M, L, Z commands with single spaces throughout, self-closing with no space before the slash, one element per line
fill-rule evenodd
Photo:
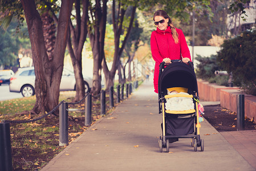
<path fill-rule="evenodd" d="M 175 59 L 181 59 L 182 62 L 188 63 L 191 61 L 191 57 L 183 32 L 173 26 L 172 20 L 164 10 L 157 10 L 153 20 L 157 28 L 151 34 L 151 52 L 156 61 L 154 88 L 158 93 L 160 63 L 169 64 L 170 60 Z"/>

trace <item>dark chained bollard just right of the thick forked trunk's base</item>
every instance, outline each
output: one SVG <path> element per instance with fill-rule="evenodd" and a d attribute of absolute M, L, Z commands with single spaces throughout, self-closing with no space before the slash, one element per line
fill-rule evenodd
<path fill-rule="evenodd" d="M 59 107 L 59 146 L 68 145 L 68 103 Z"/>

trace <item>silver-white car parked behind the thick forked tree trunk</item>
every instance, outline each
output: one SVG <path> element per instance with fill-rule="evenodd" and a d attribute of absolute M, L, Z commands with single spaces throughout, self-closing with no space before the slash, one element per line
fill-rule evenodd
<path fill-rule="evenodd" d="M 75 91 L 76 89 L 74 72 L 63 68 L 60 91 Z M 92 79 L 84 76 L 86 92 L 92 86 Z M 10 92 L 21 92 L 23 96 L 35 95 L 35 71 L 34 67 L 19 68 L 9 84 Z"/>

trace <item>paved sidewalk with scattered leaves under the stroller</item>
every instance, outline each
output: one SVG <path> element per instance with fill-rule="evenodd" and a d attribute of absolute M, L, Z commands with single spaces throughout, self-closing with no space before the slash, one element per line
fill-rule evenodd
<path fill-rule="evenodd" d="M 170 144 L 170 153 L 160 153 L 160 124 L 157 94 L 145 82 L 42 170 L 256 170 L 208 121 L 200 129 L 204 152 L 194 152 L 190 139 L 180 139 Z M 255 152 L 255 141 L 250 145 Z"/>

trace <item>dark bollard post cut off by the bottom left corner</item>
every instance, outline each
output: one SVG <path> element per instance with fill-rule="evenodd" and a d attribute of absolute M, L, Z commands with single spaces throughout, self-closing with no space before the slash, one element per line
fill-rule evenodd
<path fill-rule="evenodd" d="M 9 123 L 0 123 L 0 170 L 13 170 Z"/>

